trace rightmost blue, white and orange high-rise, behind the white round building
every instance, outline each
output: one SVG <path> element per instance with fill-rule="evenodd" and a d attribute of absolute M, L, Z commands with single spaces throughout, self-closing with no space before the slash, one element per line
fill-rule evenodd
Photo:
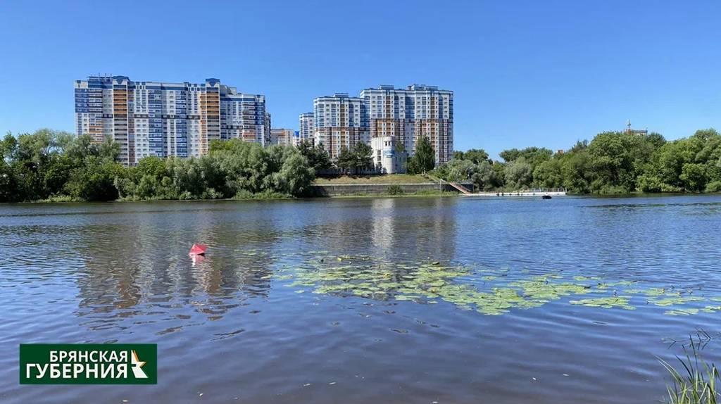
<path fill-rule="evenodd" d="M 453 91 L 413 84 L 407 89 L 379 86 L 361 91 L 364 122 L 371 138 L 392 136 L 412 155 L 417 140 L 425 136 L 435 151 L 435 161 L 453 156 Z"/>

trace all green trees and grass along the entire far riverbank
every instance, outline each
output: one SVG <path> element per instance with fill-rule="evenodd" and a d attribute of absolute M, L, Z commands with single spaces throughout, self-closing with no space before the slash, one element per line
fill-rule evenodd
<path fill-rule="evenodd" d="M 263 148 L 241 140 L 214 140 L 200 158 L 117 162 L 120 146 L 106 139 L 42 129 L 0 140 L 0 202 L 81 202 L 311 197 L 312 186 L 387 184 L 373 197 L 414 197 L 452 192 L 406 193 L 399 184 L 430 180 L 472 181 L 479 191 L 517 192 L 565 188 L 570 194 L 721 192 L 721 135 L 698 130 L 667 141 L 658 133 L 599 133 L 567 151 L 509 149 L 492 160 L 482 149 L 456 151 L 435 167 L 433 149 L 419 140 L 409 174 L 356 176 L 372 169 L 371 149 L 343 148 L 330 161 L 322 145 Z M 332 174 L 332 176 L 325 175 Z M 343 197 L 363 197 L 347 195 Z M 368 195 L 371 196 L 371 195 Z"/>

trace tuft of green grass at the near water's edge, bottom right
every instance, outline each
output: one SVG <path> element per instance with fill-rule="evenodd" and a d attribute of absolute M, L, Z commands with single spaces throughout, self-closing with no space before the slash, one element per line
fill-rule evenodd
<path fill-rule="evenodd" d="M 673 384 L 666 385 L 668 404 L 717 404 L 721 397 L 717 382 L 721 381 L 715 364 L 704 361 L 699 356 L 701 345 L 691 338 L 691 350 L 684 346 L 684 357 L 676 356 L 678 369 L 659 359 L 663 367 L 671 374 Z"/>

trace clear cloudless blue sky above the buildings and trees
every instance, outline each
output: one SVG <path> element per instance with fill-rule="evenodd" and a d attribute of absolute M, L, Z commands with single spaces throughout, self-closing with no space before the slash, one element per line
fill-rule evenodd
<path fill-rule="evenodd" d="M 0 133 L 73 130 L 73 81 L 220 78 L 274 127 L 315 96 L 454 91 L 456 150 L 568 148 L 627 119 L 721 129 L 721 1 L 0 2 Z"/>

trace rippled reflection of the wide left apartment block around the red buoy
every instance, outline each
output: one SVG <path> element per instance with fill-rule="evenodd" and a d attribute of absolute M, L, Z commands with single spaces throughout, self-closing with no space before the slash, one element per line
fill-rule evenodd
<path fill-rule="evenodd" d="M 84 325 L 92 330 L 162 320 L 195 323 L 190 311 L 219 320 L 249 297 L 267 297 L 278 259 L 273 246 L 281 236 L 273 220 L 171 210 L 114 221 L 75 232 L 73 249 L 83 261 L 76 315 L 87 318 Z M 196 241 L 211 248 L 194 265 L 187 249 Z"/>

